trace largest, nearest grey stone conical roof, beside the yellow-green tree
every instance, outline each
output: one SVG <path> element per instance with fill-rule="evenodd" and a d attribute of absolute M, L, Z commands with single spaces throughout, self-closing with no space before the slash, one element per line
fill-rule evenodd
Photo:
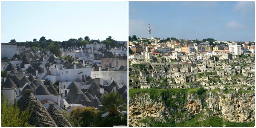
<path fill-rule="evenodd" d="M 29 124 L 37 127 L 57 127 L 43 104 L 32 94 L 31 90 L 26 92 L 17 102 L 20 111 L 25 111 L 29 105 L 29 111 L 32 114 L 29 118 Z"/>

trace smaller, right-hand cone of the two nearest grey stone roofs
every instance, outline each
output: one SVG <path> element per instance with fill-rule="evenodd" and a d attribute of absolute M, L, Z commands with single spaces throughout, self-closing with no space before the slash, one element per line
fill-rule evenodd
<path fill-rule="evenodd" d="M 72 127 L 70 122 L 54 107 L 55 104 L 50 104 L 47 111 L 52 116 L 52 119 L 58 127 Z"/>

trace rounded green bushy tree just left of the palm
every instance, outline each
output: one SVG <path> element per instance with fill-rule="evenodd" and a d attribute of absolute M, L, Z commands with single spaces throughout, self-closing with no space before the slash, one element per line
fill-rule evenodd
<path fill-rule="evenodd" d="M 89 127 L 93 125 L 93 117 L 99 113 L 93 107 L 74 108 L 70 113 L 70 123 L 75 127 Z"/>

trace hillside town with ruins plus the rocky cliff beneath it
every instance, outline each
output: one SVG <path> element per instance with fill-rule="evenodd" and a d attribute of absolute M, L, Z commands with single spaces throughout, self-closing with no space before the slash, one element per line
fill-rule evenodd
<path fill-rule="evenodd" d="M 254 121 L 254 42 L 129 40 L 130 125 Z"/>

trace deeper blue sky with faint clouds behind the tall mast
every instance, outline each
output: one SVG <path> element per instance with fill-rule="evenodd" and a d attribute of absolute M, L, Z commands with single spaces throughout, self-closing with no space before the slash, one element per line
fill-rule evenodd
<path fill-rule="evenodd" d="M 254 2 L 129 2 L 129 35 L 254 41 Z"/>

